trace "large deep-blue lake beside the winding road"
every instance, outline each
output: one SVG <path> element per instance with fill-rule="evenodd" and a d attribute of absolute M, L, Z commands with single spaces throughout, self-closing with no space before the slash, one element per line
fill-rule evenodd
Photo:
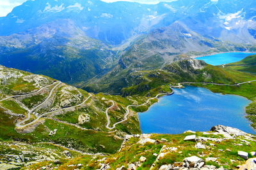
<path fill-rule="evenodd" d="M 143 133 L 180 134 L 184 131 L 209 131 L 214 125 L 236 127 L 255 134 L 244 117 L 248 99 L 222 95 L 202 87 L 175 89 L 144 113 L 139 113 Z"/>

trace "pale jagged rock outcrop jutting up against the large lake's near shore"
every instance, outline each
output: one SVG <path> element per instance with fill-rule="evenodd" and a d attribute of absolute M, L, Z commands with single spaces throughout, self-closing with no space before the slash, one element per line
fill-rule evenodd
<path fill-rule="evenodd" d="M 236 129 L 234 127 L 228 127 L 224 125 L 216 125 L 211 128 L 211 131 L 213 132 L 219 132 L 220 134 L 223 134 L 226 138 L 232 138 L 232 136 L 246 136 L 248 135 L 246 132 L 243 132 L 239 129 Z"/>

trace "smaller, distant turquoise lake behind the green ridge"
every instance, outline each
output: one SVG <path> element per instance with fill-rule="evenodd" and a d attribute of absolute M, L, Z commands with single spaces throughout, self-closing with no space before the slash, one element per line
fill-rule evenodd
<path fill-rule="evenodd" d="M 231 53 L 218 53 L 215 55 L 208 55 L 204 57 L 197 57 L 198 60 L 204 60 L 207 64 L 213 66 L 219 66 L 221 64 L 228 64 L 231 62 L 237 62 L 244 59 L 249 55 L 255 55 L 255 53 L 243 53 L 243 52 L 231 52 Z"/>

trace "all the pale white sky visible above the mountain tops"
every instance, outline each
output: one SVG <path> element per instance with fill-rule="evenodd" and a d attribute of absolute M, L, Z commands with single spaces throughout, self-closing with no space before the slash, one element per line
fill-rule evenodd
<path fill-rule="evenodd" d="M 18 6 L 24 3 L 26 0 L 0 0 L 0 17 L 6 16 L 8 13 L 12 11 L 15 6 Z M 102 0 L 108 3 L 120 1 L 120 0 Z M 147 3 L 147 4 L 156 4 L 161 1 L 170 2 L 175 0 L 123 0 L 123 1 L 131 1 L 138 3 Z"/>

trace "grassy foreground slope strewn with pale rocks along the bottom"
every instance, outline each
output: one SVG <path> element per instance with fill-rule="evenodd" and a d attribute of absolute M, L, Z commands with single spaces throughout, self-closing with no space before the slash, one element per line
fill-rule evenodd
<path fill-rule="evenodd" d="M 51 143 L 0 146 L 0 169 L 256 169 L 256 136 L 223 125 L 210 132 L 126 135 L 112 155 Z"/>

